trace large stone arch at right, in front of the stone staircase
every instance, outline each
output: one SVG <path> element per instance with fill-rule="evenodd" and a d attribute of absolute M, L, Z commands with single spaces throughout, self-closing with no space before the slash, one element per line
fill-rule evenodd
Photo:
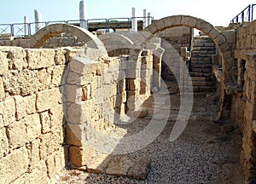
<path fill-rule="evenodd" d="M 206 20 L 201 20 L 199 18 L 189 16 L 189 15 L 174 15 L 168 16 L 160 20 L 155 20 L 151 25 L 147 26 L 143 31 L 155 34 L 157 32 L 164 31 L 168 28 L 175 26 L 189 26 L 191 28 L 196 28 L 201 32 L 207 34 L 208 37 L 216 44 L 220 50 L 220 55 L 223 57 L 224 62 L 222 63 L 224 67 L 224 83 L 229 83 L 231 79 L 231 67 L 233 66 L 234 60 L 232 57 L 230 43 L 223 33 L 219 32 L 212 24 Z M 153 36 L 152 36 L 153 37 Z"/>

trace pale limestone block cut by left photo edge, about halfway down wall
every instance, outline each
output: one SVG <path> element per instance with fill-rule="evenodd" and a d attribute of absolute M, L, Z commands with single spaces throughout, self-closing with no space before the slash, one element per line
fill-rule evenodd
<path fill-rule="evenodd" d="M 0 102 L 0 129 L 15 122 L 15 112 L 15 100 L 13 98 Z"/>

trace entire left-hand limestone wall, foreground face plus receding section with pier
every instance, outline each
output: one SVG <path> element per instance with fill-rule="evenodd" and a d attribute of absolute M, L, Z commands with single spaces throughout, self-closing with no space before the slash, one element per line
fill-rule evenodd
<path fill-rule="evenodd" d="M 68 162 L 88 164 L 88 124 L 125 135 L 116 120 L 137 115 L 153 76 L 152 51 L 134 52 L 96 61 L 83 49 L 0 48 L 0 182 L 54 182 Z"/>

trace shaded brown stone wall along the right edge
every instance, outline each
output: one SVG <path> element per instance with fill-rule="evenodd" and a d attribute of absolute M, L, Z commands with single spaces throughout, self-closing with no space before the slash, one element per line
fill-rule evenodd
<path fill-rule="evenodd" d="M 237 83 L 232 95 L 231 119 L 241 129 L 241 166 L 245 183 L 256 178 L 256 21 L 236 31 Z"/>

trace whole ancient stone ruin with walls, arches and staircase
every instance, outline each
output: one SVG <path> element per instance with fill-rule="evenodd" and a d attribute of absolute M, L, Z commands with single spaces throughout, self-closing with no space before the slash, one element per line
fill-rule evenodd
<path fill-rule="evenodd" d="M 194 37 L 194 28 L 204 35 Z M 96 36 L 78 26 L 53 24 L 32 37 L 2 35 L 0 183 L 54 182 L 67 165 L 104 172 L 99 163 L 110 153 L 84 145 L 96 137 L 91 129 L 124 137 L 117 119 L 143 116 L 143 101 L 160 90 L 162 79 L 179 82 L 182 66 L 173 63 L 181 58 L 194 92 L 218 95 L 216 120 L 239 126 L 242 176 L 253 182 L 255 35 L 255 20 L 220 29 L 189 15 L 154 20 L 143 32 Z M 188 83 L 180 86 L 181 93 L 191 89 Z"/>

